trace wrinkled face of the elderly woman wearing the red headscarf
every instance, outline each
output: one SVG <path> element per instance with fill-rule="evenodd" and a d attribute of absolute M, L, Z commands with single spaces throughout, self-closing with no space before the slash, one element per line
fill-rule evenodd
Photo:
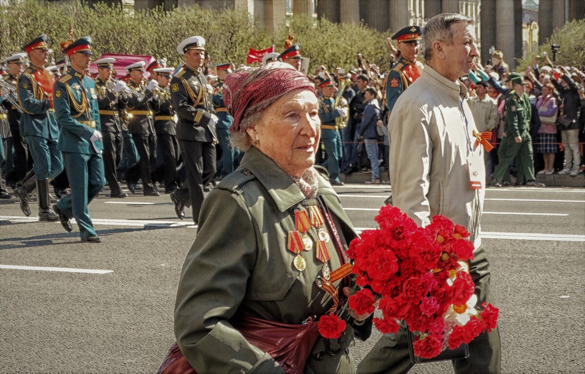
<path fill-rule="evenodd" d="M 252 143 L 288 175 L 302 176 L 315 163 L 321 137 L 319 103 L 314 93 L 297 89 L 270 105 L 246 129 Z"/>

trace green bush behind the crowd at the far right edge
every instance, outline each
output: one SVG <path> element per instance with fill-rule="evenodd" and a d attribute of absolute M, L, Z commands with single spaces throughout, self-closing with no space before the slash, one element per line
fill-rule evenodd
<path fill-rule="evenodd" d="M 546 52 L 552 61 L 552 52 L 550 46 L 559 44 L 560 54 L 556 55 L 556 65 L 569 65 L 577 68 L 585 67 L 585 19 L 573 20 L 566 23 L 563 27 L 555 29 L 549 39 L 538 47 L 538 56 Z M 534 55 L 520 60 L 517 70 L 524 71 L 526 67 L 532 65 Z"/>

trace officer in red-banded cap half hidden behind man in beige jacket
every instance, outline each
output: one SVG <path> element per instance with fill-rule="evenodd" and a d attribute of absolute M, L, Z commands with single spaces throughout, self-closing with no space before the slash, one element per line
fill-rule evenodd
<path fill-rule="evenodd" d="M 417 67 L 418 50 L 421 44 L 421 27 L 407 26 L 392 36 L 398 42 L 400 58 L 387 72 L 383 82 L 382 101 L 386 104 L 388 115 L 392 112 L 398 96 L 408 88 L 418 77 Z"/>

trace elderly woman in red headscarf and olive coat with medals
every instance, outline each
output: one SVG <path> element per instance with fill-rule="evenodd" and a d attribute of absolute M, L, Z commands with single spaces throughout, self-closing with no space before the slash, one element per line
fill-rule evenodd
<path fill-rule="evenodd" d="M 315 93 L 283 63 L 239 69 L 223 85 L 231 141 L 246 154 L 203 203 L 175 311 L 178 346 L 199 374 L 284 373 L 235 325 L 242 317 L 302 324 L 347 295 L 347 277 L 322 287 L 347 263 L 355 233 L 314 168 L 321 135 Z M 369 336 L 371 316 L 349 314 L 341 316 L 347 324 L 339 338 L 319 337 L 309 347 L 302 372 L 355 372 L 347 347 L 354 332 Z"/>

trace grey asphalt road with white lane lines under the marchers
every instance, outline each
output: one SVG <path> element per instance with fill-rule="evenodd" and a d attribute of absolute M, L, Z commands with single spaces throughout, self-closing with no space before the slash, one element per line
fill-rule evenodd
<path fill-rule="evenodd" d="M 390 186 L 336 190 L 355 226 L 371 228 Z M 0 373 L 153 373 L 174 342 L 174 297 L 196 228 L 177 219 L 168 195 L 106 196 L 90 205 L 101 244 L 0 201 Z M 486 198 L 503 373 L 585 373 L 585 189 L 488 189 Z M 352 348 L 356 361 L 379 337 Z M 411 370 L 452 372 L 450 362 Z"/>

